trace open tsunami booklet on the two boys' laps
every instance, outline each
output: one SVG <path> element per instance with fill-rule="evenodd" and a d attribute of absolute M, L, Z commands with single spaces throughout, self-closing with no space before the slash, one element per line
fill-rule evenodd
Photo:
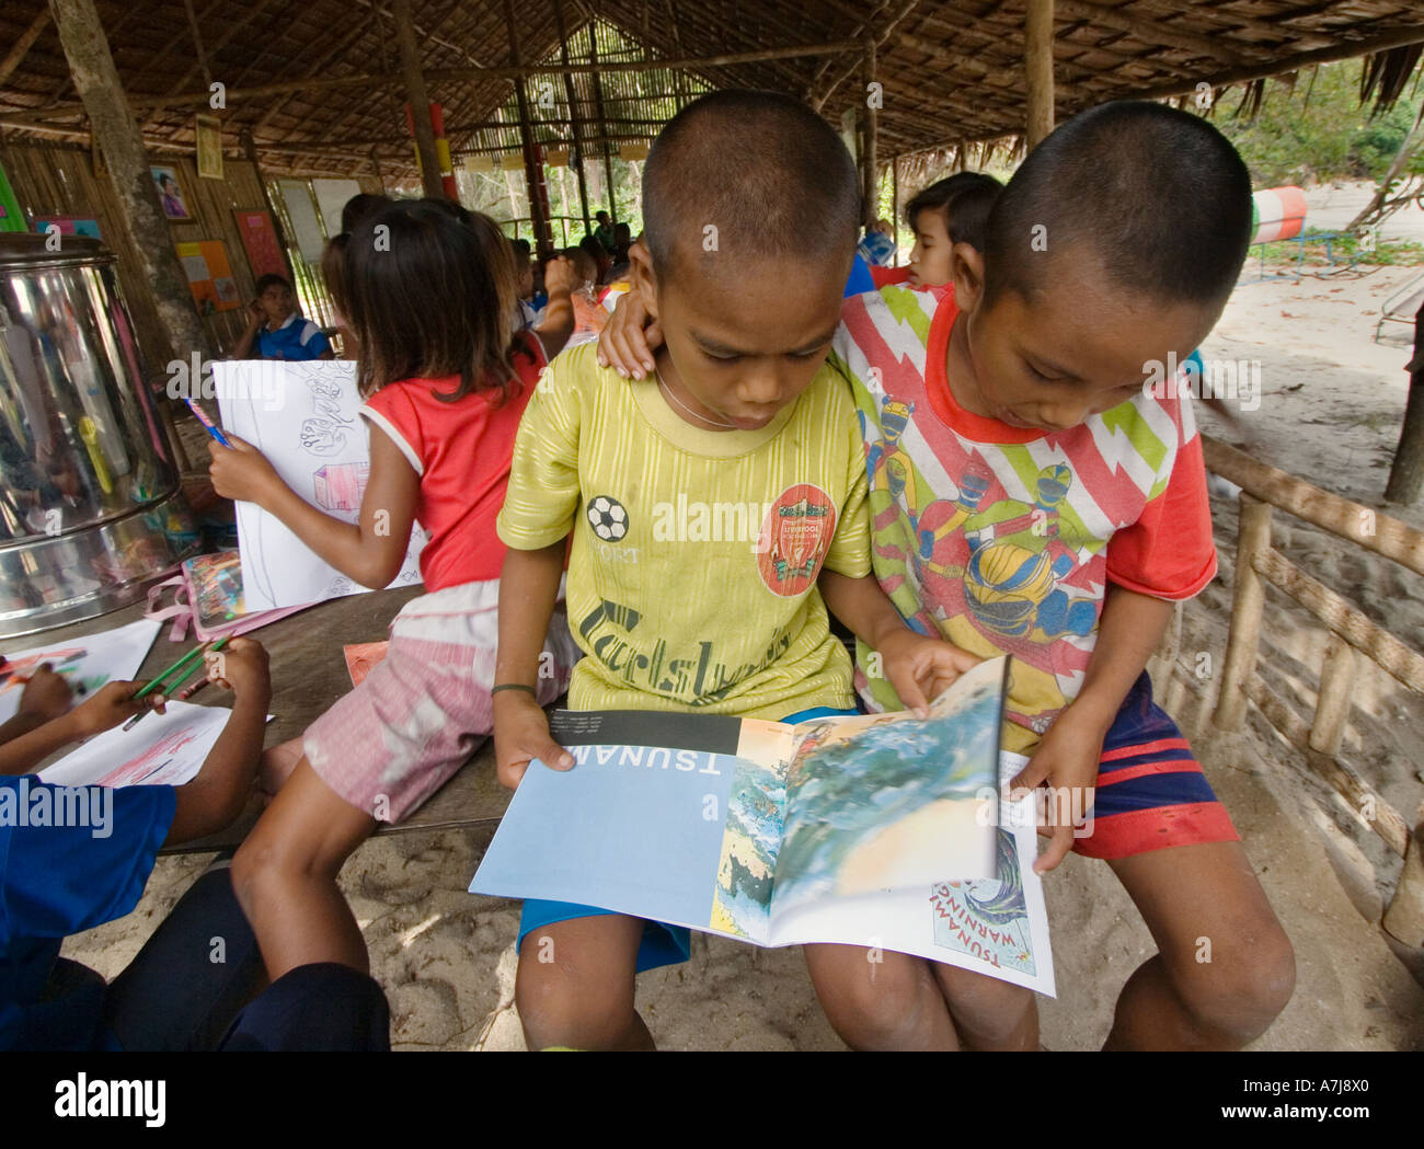
<path fill-rule="evenodd" d="M 1000 770 L 1024 762 L 998 753 L 1007 662 L 924 719 L 560 710 L 577 765 L 530 765 L 470 891 L 917 954 L 1052 994 L 1032 817 L 1000 817 Z"/>

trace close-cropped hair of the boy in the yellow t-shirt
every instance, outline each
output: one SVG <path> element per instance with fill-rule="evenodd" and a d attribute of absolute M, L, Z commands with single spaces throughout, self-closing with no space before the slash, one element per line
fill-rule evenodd
<path fill-rule="evenodd" d="M 713 272 L 748 256 L 843 253 L 849 271 L 860 229 L 860 179 L 840 137 L 799 100 L 766 91 L 703 95 L 668 121 L 642 204 L 659 278 L 699 255 Z"/>

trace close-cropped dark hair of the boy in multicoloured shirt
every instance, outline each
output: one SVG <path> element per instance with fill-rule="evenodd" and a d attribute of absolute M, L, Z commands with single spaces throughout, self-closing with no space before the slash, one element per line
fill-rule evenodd
<path fill-rule="evenodd" d="M 1030 152 L 988 216 L 984 303 L 1031 300 L 1071 252 L 1087 273 L 1171 303 L 1225 303 L 1252 232 L 1250 175 L 1215 127 L 1124 100 L 1081 112 Z"/>

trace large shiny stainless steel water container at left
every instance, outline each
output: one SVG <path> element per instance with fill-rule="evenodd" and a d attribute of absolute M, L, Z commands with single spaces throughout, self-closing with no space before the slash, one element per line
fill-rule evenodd
<path fill-rule="evenodd" d="M 132 602 L 198 550 L 114 262 L 0 234 L 0 636 Z"/>

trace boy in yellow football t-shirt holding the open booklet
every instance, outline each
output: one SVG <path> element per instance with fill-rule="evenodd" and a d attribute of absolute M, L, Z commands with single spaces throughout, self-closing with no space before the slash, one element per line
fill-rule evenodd
<path fill-rule="evenodd" d="M 732 154 L 742 162 L 729 165 Z M 840 138 L 789 97 L 702 97 L 654 144 L 644 211 L 632 290 L 665 335 L 655 382 L 629 386 L 580 347 L 551 364 L 520 426 L 498 520 L 510 551 L 494 729 L 510 786 L 534 757 L 572 766 L 551 740 L 535 679 L 565 554 L 585 652 L 572 709 L 787 722 L 844 713 L 850 663 L 827 605 L 876 645 L 910 706 L 978 661 L 911 632 L 869 577 L 860 437 L 849 392 L 823 369 L 860 212 Z M 622 513 L 621 534 L 595 534 L 595 497 Z M 679 500 L 770 510 L 746 537 L 659 538 L 659 508 Z M 778 562 L 787 523 L 805 545 Z M 646 1048 L 634 975 L 686 960 L 689 935 L 525 901 L 517 945 L 531 1048 Z"/>

